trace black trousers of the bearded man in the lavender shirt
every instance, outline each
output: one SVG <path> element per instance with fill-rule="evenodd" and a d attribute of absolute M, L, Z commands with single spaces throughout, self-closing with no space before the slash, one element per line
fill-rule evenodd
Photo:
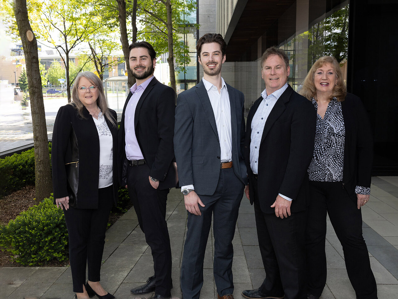
<path fill-rule="evenodd" d="M 152 251 L 155 293 L 168 297 L 172 287 L 172 251 L 166 223 L 166 202 L 170 190 L 152 187 L 147 164 L 128 166 L 127 187 L 145 241 Z"/>

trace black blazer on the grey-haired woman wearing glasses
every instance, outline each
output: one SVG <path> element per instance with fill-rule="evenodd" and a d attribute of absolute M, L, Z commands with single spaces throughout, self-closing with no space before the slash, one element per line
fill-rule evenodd
<path fill-rule="evenodd" d="M 110 109 L 117 120 L 116 112 Z M 94 120 L 86 107 L 83 116 L 77 114 L 72 105 L 59 108 L 55 118 L 51 147 L 51 165 L 53 168 L 54 199 L 68 196 L 66 190 L 65 163 L 72 162 L 70 150 L 70 130 L 73 126 L 79 147 L 79 187 L 76 208 L 98 208 L 98 181 L 100 174 L 100 139 Z M 117 152 L 117 126 L 106 120 L 113 139 L 113 152 Z M 113 158 L 113 201 L 117 203 L 118 167 Z"/>

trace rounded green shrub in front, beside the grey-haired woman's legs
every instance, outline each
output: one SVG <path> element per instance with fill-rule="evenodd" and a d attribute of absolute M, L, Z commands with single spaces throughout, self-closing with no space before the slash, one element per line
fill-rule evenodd
<path fill-rule="evenodd" d="M 67 257 L 68 232 L 64 213 L 53 197 L 21 212 L 15 220 L 0 227 L 0 246 L 25 266 L 42 266 L 50 260 Z"/>

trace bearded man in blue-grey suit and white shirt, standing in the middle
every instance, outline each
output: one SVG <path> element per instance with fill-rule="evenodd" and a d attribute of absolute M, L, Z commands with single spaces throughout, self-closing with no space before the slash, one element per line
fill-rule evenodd
<path fill-rule="evenodd" d="M 221 35 L 203 35 L 196 50 L 203 79 L 178 96 L 174 129 L 179 185 L 189 212 L 181 289 L 184 299 L 199 299 L 213 214 L 218 298 L 232 299 L 232 239 L 247 183 L 244 96 L 221 77 L 226 58 Z"/>

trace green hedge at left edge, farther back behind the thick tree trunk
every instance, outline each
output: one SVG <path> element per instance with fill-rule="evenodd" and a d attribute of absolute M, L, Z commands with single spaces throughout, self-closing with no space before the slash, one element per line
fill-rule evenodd
<path fill-rule="evenodd" d="M 51 143 L 49 143 L 49 152 L 51 152 Z M 34 183 L 34 149 L 0 159 L 0 198 Z"/>

